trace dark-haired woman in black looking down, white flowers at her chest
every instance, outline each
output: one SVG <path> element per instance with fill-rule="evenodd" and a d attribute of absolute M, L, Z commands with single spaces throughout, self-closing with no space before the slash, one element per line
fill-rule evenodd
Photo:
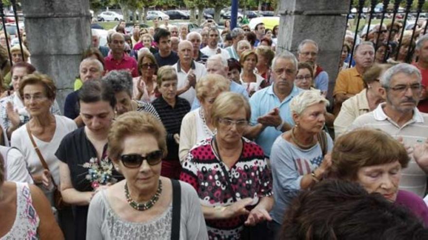
<path fill-rule="evenodd" d="M 79 104 L 85 126 L 67 134 L 55 153 L 60 160 L 63 200 L 74 209 L 76 240 L 86 238 L 88 205 L 93 195 L 123 179 L 107 159 L 107 133 L 116 105 L 113 89 L 105 81 L 85 81 L 79 92 Z"/>

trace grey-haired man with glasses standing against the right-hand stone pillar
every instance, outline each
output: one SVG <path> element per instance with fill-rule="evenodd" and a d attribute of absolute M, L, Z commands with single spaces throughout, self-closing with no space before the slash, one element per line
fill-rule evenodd
<path fill-rule="evenodd" d="M 311 64 L 314 72 L 314 85 L 321 93 L 327 94 L 328 90 L 328 74 L 320 65 L 317 64 L 318 44 L 311 39 L 303 40 L 297 47 L 299 54 L 299 62 Z"/>

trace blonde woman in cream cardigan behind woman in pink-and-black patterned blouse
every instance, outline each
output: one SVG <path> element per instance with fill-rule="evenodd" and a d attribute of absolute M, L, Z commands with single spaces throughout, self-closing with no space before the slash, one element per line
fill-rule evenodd
<path fill-rule="evenodd" d="M 218 74 L 205 75 L 196 82 L 196 97 L 200 107 L 187 113 L 183 118 L 179 144 L 181 163 L 195 144 L 214 134 L 211 107 L 220 93 L 229 91 L 229 85 L 230 80 Z"/>

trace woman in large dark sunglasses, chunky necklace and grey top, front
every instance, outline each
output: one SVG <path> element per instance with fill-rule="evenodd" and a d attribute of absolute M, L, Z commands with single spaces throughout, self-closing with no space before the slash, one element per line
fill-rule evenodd
<path fill-rule="evenodd" d="M 127 112 L 112 124 L 108 156 L 125 179 L 90 202 L 86 239 L 208 239 L 195 190 L 160 176 L 166 134 L 148 113 Z"/>

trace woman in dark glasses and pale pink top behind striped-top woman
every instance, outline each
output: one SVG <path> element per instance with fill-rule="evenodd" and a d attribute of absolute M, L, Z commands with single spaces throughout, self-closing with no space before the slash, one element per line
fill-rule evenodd
<path fill-rule="evenodd" d="M 141 76 L 133 79 L 133 99 L 150 103 L 159 96 L 156 84 L 158 63 L 151 53 L 143 53 L 138 58 L 138 71 Z"/>

